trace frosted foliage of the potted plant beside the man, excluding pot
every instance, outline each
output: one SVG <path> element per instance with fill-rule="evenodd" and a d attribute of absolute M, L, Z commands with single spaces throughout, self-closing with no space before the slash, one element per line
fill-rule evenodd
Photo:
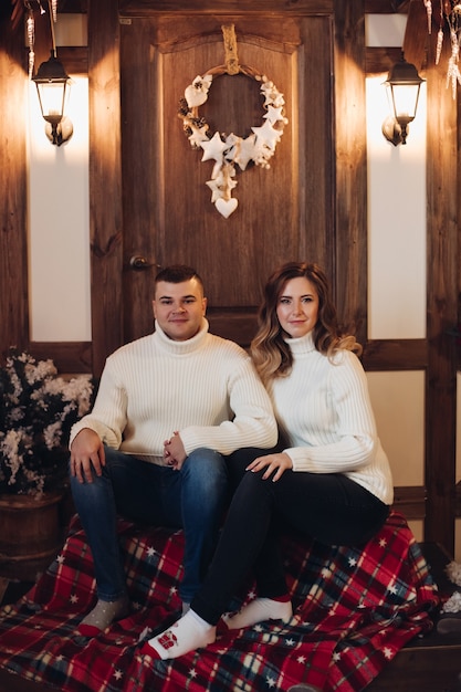
<path fill-rule="evenodd" d="M 10 348 L 0 395 L 0 494 L 41 495 L 61 487 L 71 427 L 92 405 L 91 376 L 64 379 L 52 360 Z"/>

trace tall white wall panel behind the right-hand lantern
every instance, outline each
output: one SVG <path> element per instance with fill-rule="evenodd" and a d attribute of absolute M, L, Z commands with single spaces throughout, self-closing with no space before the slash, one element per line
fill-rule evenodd
<path fill-rule="evenodd" d="M 426 88 L 406 145 L 381 134 L 387 75 L 367 78 L 368 338 L 426 336 Z"/>

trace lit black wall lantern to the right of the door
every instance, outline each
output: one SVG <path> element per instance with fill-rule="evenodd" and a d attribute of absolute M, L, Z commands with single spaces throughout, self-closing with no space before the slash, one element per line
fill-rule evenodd
<path fill-rule="evenodd" d="M 419 76 L 415 65 L 407 63 L 404 53 L 400 61 L 389 71 L 385 85 L 388 88 L 392 114 L 383 123 L 383 134 L 394 146 L 407 144 L 408 124 L 415 119 L 419 90 L 425 81 Z"/>

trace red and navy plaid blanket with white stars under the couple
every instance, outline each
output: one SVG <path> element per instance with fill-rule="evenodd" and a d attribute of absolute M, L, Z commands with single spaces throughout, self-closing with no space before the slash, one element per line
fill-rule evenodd
<path fill-rule="evenodd" d="M 392 513 L 362 549 L 284 538 L 295 614 L 220 631 L 175 661 L 145 660 L 145 639 L 179 615 L 182 533 L 119 522 L 129 617 L 95 639 L 76 635 L 95 602 L 93 563 L 77 517 L 62 553 L 18 604 L 0 611 L 0 668 L 64 692 L 287 690 L 308 682 L 358 692 L 432 627 L 438 589 L 406 520 Z M 232 609 L 254 596 L 251 577 Z"/>

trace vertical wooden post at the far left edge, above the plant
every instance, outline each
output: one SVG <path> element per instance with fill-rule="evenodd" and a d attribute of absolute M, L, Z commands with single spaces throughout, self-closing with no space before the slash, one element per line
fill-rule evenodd
<path fill-rule="evenodd" d="M 27 93 L 22 27 L 0 20 L 0 352 L 29 340 Z"/>

